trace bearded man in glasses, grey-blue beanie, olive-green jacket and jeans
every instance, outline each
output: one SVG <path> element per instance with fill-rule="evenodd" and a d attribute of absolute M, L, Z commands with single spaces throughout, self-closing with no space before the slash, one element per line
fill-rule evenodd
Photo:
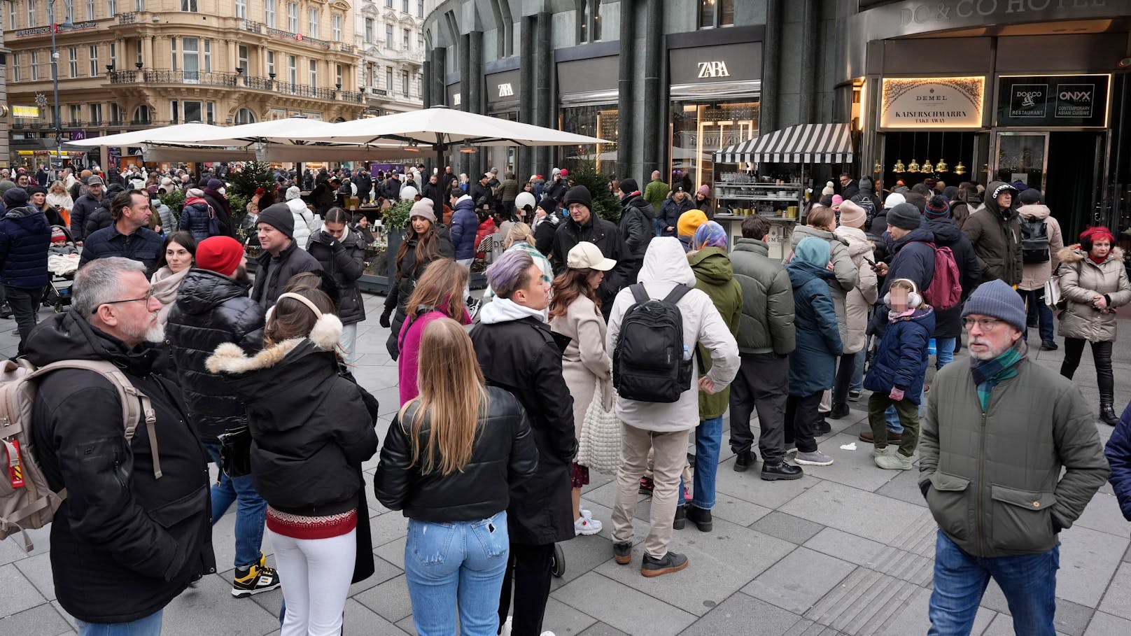
<path fill-rule="evenodd" d="M 969 356 L 939 371 L 920 439 L 918 485 L 939 524 L 929 634 L 969 634 L 993 577 L 1015 631 L 1052 635 L 1059 533 L 1110 473 L 1094 412 L 1026 358 L 1010 285 L 983 283 L 962 319 Z"/>

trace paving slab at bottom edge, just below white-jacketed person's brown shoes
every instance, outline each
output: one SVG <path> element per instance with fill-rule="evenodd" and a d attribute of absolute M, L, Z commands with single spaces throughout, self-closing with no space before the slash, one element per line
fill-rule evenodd
<path fill-rule="evenodd" d="M 687 570 L 684 570 L 687 571 Z M 665 575 L 677 577 L 681 573 Z M 637 573 L 640 576 L 640 573 Z M 644 577 L 640 577 L 644 578 Z M 658 577 L 663 579 L 665 577 Z M 696 616 L 649 594 L 590 571 L 553 593 L 553 598 L 625 634 L 675 635 Z"/>

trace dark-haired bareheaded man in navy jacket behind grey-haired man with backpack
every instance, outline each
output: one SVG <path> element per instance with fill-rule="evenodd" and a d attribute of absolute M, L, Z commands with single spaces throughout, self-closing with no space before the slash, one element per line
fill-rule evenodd
<path fill-rule="evenodd" d="M 161 251 L 161 234 L 149 229 L 149 195 L 141 190 L 126 190 L 114 196 L 110 204 L 114 223 L 86 238 L 79 268 L 98 258 L 120 256 L 139 260 L 146 276 L 153 275 Z"/>

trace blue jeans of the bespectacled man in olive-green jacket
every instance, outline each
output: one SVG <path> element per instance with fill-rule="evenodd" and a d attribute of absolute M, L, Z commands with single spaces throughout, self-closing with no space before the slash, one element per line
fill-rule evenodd
<path fill-rule="evenodd" d="M 1017 634 L 1054 636 L 1059 568 L 1060 543 L 1039 555 L 978 558 L 964 552 L 940 530 L 927 636 L 969 634 L 991 576 L 1005 593 Z"/>

